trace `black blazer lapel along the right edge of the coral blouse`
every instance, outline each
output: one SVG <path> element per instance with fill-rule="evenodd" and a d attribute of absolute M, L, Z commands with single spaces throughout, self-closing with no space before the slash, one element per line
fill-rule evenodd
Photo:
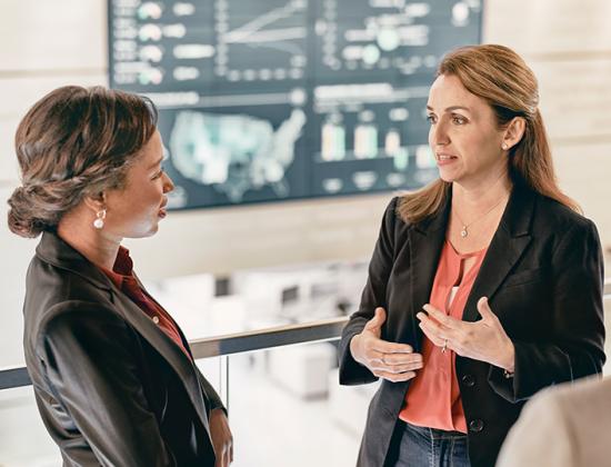
<path fill-rule="evenodd" d="M 478 300 L 481 297 L 491 299 L 494 296 L 499 286 L 529 246 L 533 210 L 533 192 L 522 183 L 517 182 L 467 299 L 462 312 L 463 321 L 479 319 Z"/>

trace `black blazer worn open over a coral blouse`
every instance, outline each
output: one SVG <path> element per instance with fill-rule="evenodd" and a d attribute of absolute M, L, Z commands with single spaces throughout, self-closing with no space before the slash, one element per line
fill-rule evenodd
<path fill-rule="evenodd" d="M 359 310 L 340 345 L 340 382 L 377 378 L 350 354 L 350 339 L 384 307 L 382 338 L 420 351 L 415 314 L 429 301 L 450 199 L 435 216 L 403 222 L 393 199 L 382 221 Z M 604 362 L 603 259 L 594 225 L 522 183 L 511 193 L 467 301 L 462 319 L 480 319 L 477 301 L 487 296 L 515 346 L 515 376 L 458 357 L 457 375 L 469 427 L 473 467 L 493 466 L 523 403 L 539 389 L 600 372 Z M 384 380 L 373 397 L 359 466 L 393 465 L 402 423 L 398 421 L 409 381 Z"/>

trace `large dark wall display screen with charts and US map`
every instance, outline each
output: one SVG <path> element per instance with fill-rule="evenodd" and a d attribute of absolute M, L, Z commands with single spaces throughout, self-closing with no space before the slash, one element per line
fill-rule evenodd
<path fill-rule="evenodd" d="M 415 188 L 440 57 L 480 0 L 109 0 L 110 85 L 160 109 L 170 206 Z"/>

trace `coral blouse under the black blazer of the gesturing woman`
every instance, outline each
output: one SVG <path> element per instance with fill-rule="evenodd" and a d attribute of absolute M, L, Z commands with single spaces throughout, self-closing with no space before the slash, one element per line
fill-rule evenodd
<path fill-rule="evenodd" d="M 488 248 L 461 255 L 445 240 L 429 302 L 437 309 L 457 319 L 462 311 L 473 282 L 478 277 Z M 468 258 L 475 258 L 471 268 L 464 271 Z M 460 398 L 457 378 L 455 354 L 441 351 L 427 336 L 422 339 L 424 362 L 413 378 L 399 418 L 412 425 L 447 431 L 467 433 L 467 420 Z"/>

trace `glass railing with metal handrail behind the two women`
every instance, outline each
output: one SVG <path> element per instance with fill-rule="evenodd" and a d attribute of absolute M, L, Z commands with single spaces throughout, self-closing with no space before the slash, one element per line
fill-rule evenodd
<path fill-rule="evenodd" d="M 193 339 L 229 408 L 237 467 L 353 466 L 375 385 L 341 387 L 345 317 Z M 0 370 L 0 466 L 59 467 L 24 368 Z"/>

